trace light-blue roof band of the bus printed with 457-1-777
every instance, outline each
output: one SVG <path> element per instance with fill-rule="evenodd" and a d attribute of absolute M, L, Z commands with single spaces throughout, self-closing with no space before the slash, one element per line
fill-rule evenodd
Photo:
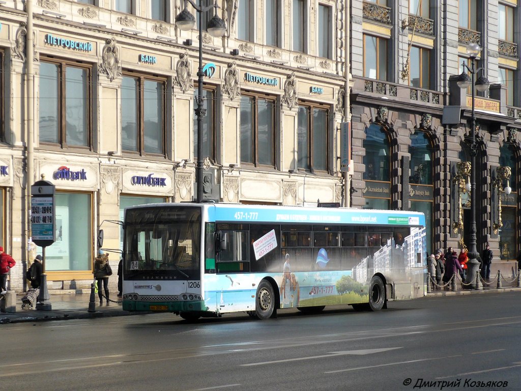
<path fill-rule="evenodd" d="M 425 215 L 413 211 L 187 202 L 137 207 L 153 206 L 199 206 L 207 213 L 210 222 L 425 226 Z"/>

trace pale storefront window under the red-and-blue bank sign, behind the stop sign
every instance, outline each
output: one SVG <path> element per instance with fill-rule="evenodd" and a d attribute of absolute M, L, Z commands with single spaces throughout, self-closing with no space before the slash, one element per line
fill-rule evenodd
<path fill-rule="evenodd" d="M 91 270 L 92 195 L 57 192 L 55 241 L 45 248 L 46 271 Z M 42 253 L 42 249 L 37 249 Z"/>

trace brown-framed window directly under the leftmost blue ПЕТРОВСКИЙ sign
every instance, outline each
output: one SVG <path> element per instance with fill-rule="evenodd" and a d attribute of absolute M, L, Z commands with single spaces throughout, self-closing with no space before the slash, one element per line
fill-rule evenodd
<path fill-rule="evenodd" d="M 45 58 L 39 82 L 40 142 L 90 147 L 90 66 Z"/>

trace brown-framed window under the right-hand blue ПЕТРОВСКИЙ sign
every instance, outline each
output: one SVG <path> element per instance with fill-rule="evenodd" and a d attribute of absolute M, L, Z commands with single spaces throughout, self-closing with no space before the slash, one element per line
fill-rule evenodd
<path fill-rule="evenodd" d="M 274 97 L 241 94 L 241 162 L 275 166 Z"/>

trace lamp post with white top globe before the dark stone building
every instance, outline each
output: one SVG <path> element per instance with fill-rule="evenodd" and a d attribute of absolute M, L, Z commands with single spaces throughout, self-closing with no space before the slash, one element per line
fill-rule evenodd
<path fill-rule="evenodd" d="M 479 270 L 479 261 L 477 260 L 479 254 L 477 249 L 477 228 L 476 228 L 476 155 L 478 153 L 478 147 L 476 144 L 476 113 L 475 113 L 475 90 L 486 91 L 489 88 L 490 82 L 486 77 L 480 76 L 475 80 L 475 75 L 482 68 L 476 69 L 476 57 L 479 55 L 481 48 L 477 43 L 471 43 L 467 46 L 467 54 L 470 58 L 470 68 L 467 64 L 463 63 L 463 72 L 458 76 L 457 85 L 462 89 L 471 87 L 472 89 L 472 114 L 470 115 L 470 247 L 468 251 L 468 258 L 470 259 L 467 263 L 467 278 L 466 283 L 472 284 L 474 287 L 478 286 L 477 272 Z M 471 76 L 468 76 L 467 70 Z"/>

